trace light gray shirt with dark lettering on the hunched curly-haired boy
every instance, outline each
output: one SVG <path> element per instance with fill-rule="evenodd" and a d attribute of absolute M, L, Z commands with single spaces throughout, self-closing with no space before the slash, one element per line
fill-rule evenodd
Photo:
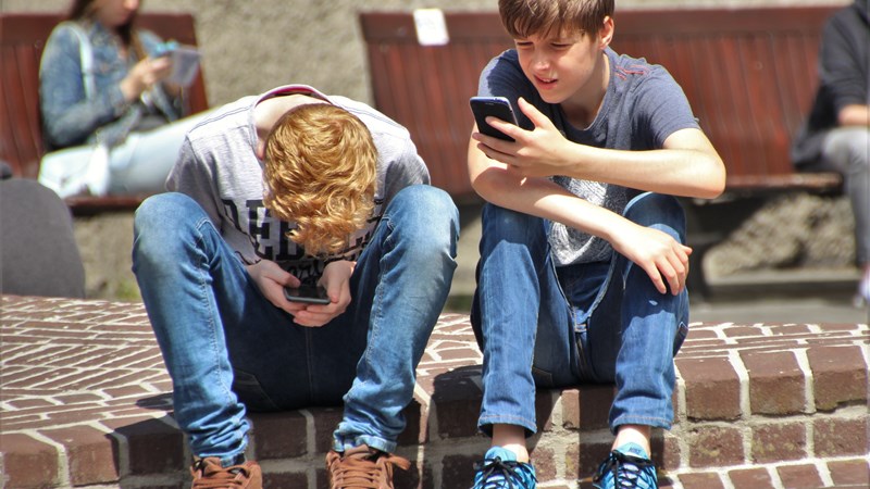
<path fill-rule="evenodd" d="M 265 184 L 263 162 L 254 153 L 253 109 L 268 98 L 291 93 L 318 97 L 352 113 L 369 128 L 377 148 L 375 208 L 369 225 L 351 237 L 348 249 L 325 261 L 307 256 L 286 237 L 295 224 L 273 217 L 263 206 Z M 191 129 L 166 188 L 194 198 L 243 263 L 272 260 L 306 280 L 319 277 L 328 261 L 357 260 L 393 197 L 407 186 L 428 183 L 428 171 L 405 127 L 364 103 L 288 85 L 228 103 Z"/>

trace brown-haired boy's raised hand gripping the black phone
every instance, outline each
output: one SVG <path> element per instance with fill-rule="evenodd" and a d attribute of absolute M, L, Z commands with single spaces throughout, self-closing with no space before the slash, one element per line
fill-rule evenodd
<path fill-rule="evenodd" d="M 507 164 L 509 171 L 524 177 L 562 174 L 563 167 L 571 162 L 567 155 L 573 145 L 562 136 L 546 115 L 525 99 L 520 98 L 519 105 L 535 128 L 525 130 L 496 117 L 487 117 L 486 122 L 489 125 L 512 137 L 514 141 L 474 133 L 472 137 L 478 141 L 477 148 L 488 158 Z"/>

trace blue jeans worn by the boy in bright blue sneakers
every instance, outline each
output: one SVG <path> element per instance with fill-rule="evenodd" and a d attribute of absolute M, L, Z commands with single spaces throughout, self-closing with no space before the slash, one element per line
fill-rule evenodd
<path fill-rule="evenodd" d="M 643 193 L 624 216 L 685 242 L 676 199 Z M 535 432 L 535 388 L 616 383 L 610 429 L 670 428 L 673 355 L 687 333 L 688 294 L 662 294 L 613 252 L 609 262 L 556 267 L 549 222 L 495 205 L 483 211 L 471 322 L 484 354 L 478 427 Z"/>

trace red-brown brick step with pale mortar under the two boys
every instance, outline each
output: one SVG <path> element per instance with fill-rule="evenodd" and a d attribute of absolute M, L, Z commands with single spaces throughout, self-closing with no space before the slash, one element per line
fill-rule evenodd
<path fill-rule="evenodd" d="M 188 487 L 172 386 L 139 303 L 3 296 L 0 451 L 7 488 Z M 676 424 L 656 434 L 661 486 L 868 487 L 866 324 L 692 325 L 676 359 Z M 397 488 L 464 488 L 488 440 L 474 425 L 481 354 L 442 315 L 418 368 Z M 537 393 L 542 488 L 577 485 L 609 449 L 612 386 Z M 251 414 L 270 488 L 326 487 L 340 408 Z"/>

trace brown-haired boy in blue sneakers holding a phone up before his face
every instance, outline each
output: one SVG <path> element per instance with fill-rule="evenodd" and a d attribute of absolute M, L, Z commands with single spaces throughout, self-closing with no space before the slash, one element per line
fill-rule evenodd
<path fill-rule="evenodd" d="M 599 488 L 655 488 L 651 428 L 673 418 L 673 355 L 687 333 L 685 217 L 724 166 L 661 66 L 609 48 L 613 0 L 499 0 L 515 49 L 480 96 L 519 127 L 475 126 L 469 172 L 483 210 L 472 325 L 484 353 L 478 427 L 492 448 L 474 488 L 536 485 L 526 437 L 535 388 L 616 383 Z"/>

